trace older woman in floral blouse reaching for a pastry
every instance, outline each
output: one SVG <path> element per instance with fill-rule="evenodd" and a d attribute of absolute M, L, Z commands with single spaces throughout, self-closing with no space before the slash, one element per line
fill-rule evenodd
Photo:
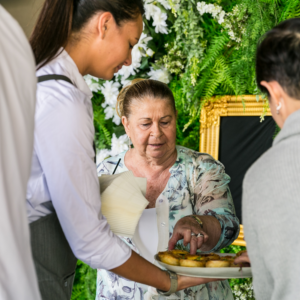
<path fill-rule="evenodd" d="M 160 225 L 148 225 L 158 230 L 158 250 L 175 246 L 178 238 L 190 243 L 191 253 L 218 251 L 230 245 L 239 233 L 235 215 L 230 177 L 224 166 L 210 155 L 176 146 L 176 117 L 171 90 L 155 80 L 136 80 L 124 88 L 117 109 L 122 124 L 134 148 L 105 160 L 99 175 L 132 171 L 136 177 L 147 179 L 147 209 L 155 209 Z M 139 251 L 134 241 L 124 241 Z M 96 299 L 143 299 L 145 286 L 98 270 Z M 227 281 L 215 281 L 188 288 L 176 298 L 233 299 Z M 147 296 L 155 292 L 149 288 Z M 173 298 L 174 298 L 173 297 Z M 154 297 L 155 298 L 155 297 Z"/>

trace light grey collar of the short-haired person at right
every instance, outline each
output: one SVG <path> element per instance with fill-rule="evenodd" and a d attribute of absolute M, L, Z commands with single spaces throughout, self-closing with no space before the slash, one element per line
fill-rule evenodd
<path fill-rule="evenodd" d="M 293 136 L 300 134 L 300 109 L 292 113 L 285 120 L 281 131 L 273 142 L 273 146 L 277 145 L 281 141 Z"/>

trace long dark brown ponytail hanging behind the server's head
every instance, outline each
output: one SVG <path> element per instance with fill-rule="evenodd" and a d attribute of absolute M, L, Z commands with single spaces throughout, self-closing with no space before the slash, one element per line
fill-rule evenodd
<path fill-rule="evenodd" d="M 73 0 L 46 0 L 30 37 L 36 64 L 41 68 L 67 45 L 72 32 Z"/>

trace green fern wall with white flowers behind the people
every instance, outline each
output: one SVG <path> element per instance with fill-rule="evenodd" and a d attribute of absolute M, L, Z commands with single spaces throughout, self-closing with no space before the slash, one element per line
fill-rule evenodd
<path fill-rule="evenodd" d="M 144 35 L 133 49 L 132 67 L 123 67 L 110 82 L 86 77 L 94 92 L 98 150 L 110 151 L 114 135 L 125 133 L 114 105 L 118 90 L 134 78 L 169 84 L 179 116 L 177 143 L 198 150 L 203 103 L 213 95 L 258 95 L 259 39 L 279 22 L 300 16 L 298 0 L 146 0 L 145 8 Z M 73 300 L 95 298 L 95 274 L 78 264 Z"/>

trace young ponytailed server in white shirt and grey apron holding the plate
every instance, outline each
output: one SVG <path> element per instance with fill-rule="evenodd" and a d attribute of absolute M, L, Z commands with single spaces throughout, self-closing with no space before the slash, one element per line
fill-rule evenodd
<path fill-rule="evenodd" d="M 82 76 L 111 79 L 131 64 L 143 13 L 142 0 L 46 0 L 30 38 L 40 82 L 27 212 L 44 300 L 70 299 L 77 258 L 167 294 L 209 281 L 177 282 L 98 216 L 92 93 Z"/>

